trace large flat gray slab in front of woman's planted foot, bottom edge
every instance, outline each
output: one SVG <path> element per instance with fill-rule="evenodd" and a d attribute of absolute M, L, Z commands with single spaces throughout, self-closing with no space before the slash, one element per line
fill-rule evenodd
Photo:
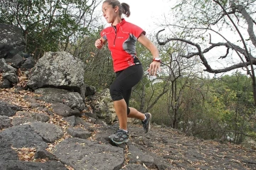
<path fill-rule="evenodd" d="M 90 140 L 68 138 L 53 149 L 55 157 L 74 169 L 121 169 L 124 150 Z"/>

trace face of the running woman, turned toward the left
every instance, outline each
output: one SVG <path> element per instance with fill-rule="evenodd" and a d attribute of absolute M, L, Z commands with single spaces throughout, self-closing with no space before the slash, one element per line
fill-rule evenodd
<path fill-rule="evenodd" d="M 114 19 L 117 18 L 118 7 L 113 8 L 106 2 L 102 4 L 102 12 L 107 23 L 114 23 Z"/>

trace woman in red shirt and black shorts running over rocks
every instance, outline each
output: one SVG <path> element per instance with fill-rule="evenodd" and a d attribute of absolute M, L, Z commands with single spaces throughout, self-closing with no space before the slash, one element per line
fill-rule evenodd
<path fill-rule="evenodd" d="M 132 87 L 143 76 L 142 64 L 135 50 L 137 40 L 149 49 L 153 55 L 153 61 L 147 70 L 149 74 L 156 75 L 156 70 L 160 69 L 160 58 L 156 46 L 146 38 L 145 31 L 121 18 L 122 13 L 129 17 L 128 4 L 120 4 L 117 0 L 106 0 L 102 4 L 102 12 L 107 23 L 111 23 L 111 26 L 102 30 L 101 38 L 95 41 L 95 47 L 101 49 L 108 43 L 112 54 L 116 79 L 110 86 L 110 96 L 114 101 L 114 110 L 119 120 L 119 130 L 110 135 L 110 139 L 115 144 L 120 145 L 129 141 L 127 118 L 142 120 L 144 132 L 149 132 L 150 129 L 151 114 L 140 113 L 135 108 L 129 107 Z"/>

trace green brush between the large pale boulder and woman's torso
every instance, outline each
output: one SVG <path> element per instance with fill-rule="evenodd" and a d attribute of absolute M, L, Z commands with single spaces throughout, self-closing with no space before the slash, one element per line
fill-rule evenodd
<path fill-rule="evenodd" d="M 67 48 L 68 52 L 85 63 L 85 84 L 94 86 L 97 91 L 109 88 L 115 77 L 107 45 L 101 50 L 95 47 L 101 29 L 97 28 Z"/>

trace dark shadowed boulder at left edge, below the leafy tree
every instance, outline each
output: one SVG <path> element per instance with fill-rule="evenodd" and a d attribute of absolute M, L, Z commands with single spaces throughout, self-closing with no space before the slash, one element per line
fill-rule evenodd
<path fill-rule="evenodd" d="M 0 23 L 0 58 L 13 57 L 25 47 L 20 28 Z"/>

